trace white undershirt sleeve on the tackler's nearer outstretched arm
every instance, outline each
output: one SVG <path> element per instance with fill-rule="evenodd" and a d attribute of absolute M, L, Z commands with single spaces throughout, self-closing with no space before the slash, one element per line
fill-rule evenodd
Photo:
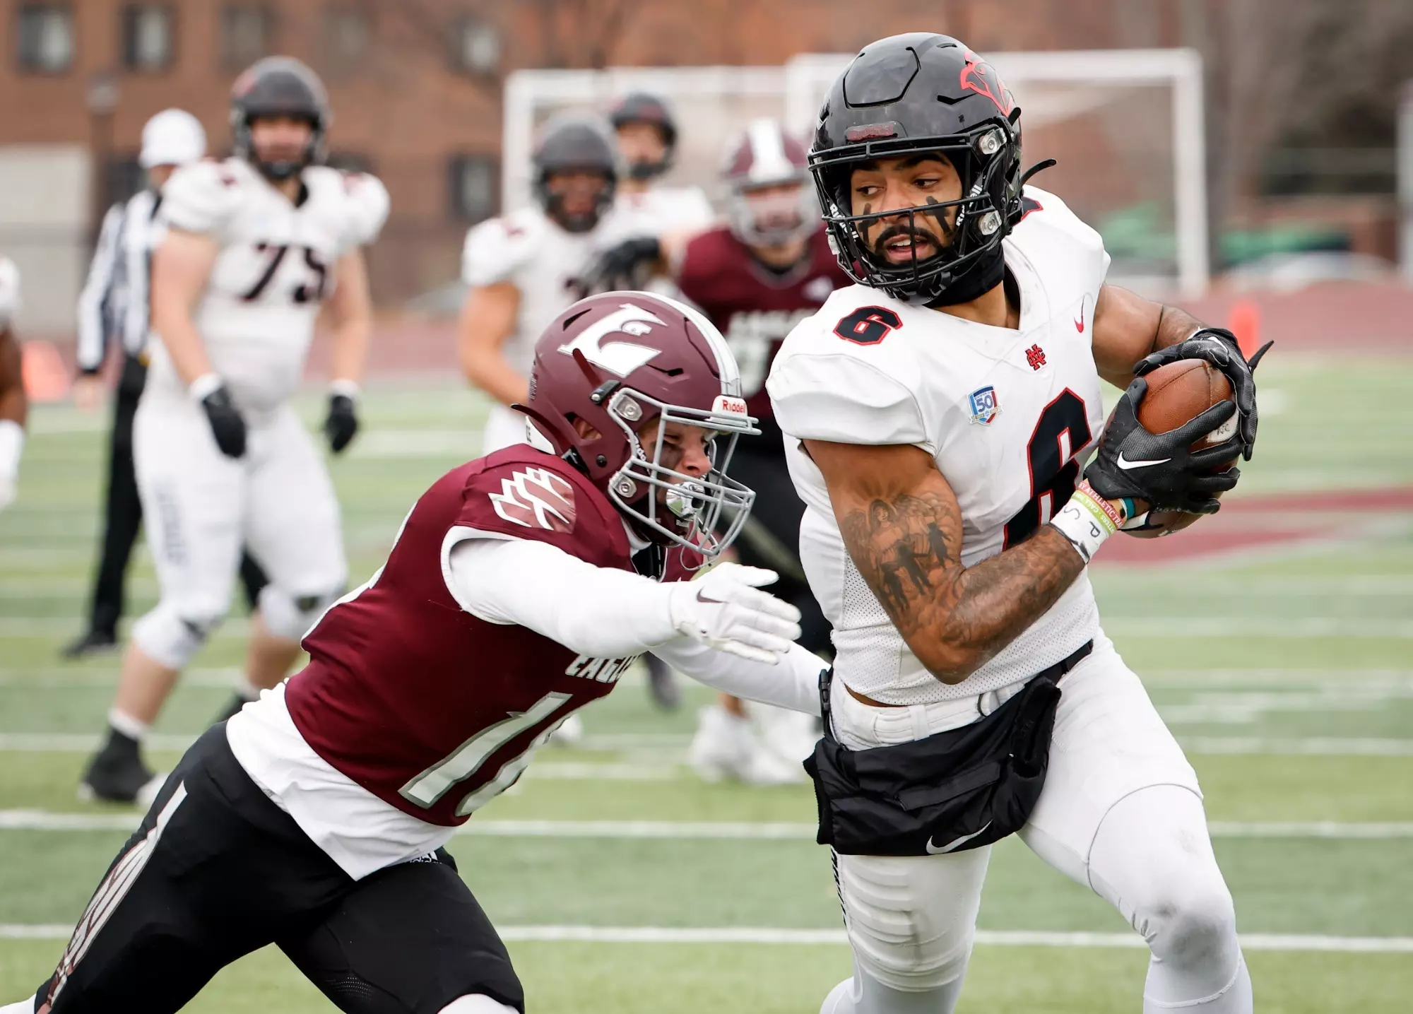
<path fill-rule="evenodd" d="M 666 585 L 548 542 L 456 535 L 448 534 L 442 576 L 472 616 L 528 627 L 593 658 L 639 655 L 678 637 Z"/>

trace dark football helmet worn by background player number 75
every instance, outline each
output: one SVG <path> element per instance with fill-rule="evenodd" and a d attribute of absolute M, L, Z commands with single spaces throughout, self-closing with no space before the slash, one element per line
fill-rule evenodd
<path fill-rule="evenodd" d="M 261 116 L 292 116 L 308 120 L 309 143 L 298 160 L 263 161 L 250 143 L 250 123 Z M 288 179 L 305 165 L 328 155 L 326 136 L 333 113 L 319 75 L 292 56 L 266 56 L 236 78 L 230 88 L 230 129 L 235 154 L 246 158 L 270 179 Z"/>

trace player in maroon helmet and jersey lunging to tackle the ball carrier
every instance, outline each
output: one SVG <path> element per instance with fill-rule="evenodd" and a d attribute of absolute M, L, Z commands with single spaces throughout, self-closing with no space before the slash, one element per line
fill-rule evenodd
<path fill-rule="evenodd" d="M 722 563 L 756 432 L 731 350 L 646 292 L 584 299 L 536 347 L 541 443 L 442 476 L 305 669 L 187 751 L 54 974 L 0 1014 L 181 1008 L 267 943 L 345 1011 L 524 1010 L 442 846 L 640 654 L 818 713 L 820 660 L 769 571 Z"/>

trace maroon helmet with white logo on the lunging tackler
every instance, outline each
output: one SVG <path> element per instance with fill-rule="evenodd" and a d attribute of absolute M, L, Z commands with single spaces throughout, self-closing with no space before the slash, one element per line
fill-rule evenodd
<path fill-rule="evenodd" d="M 715 556 L 756 494 L 726 476 L 736 438 L 755 435 L 736 360 L 702 314 L 651 292 L 603 292 L 569 306 L 536 343 L 530 402 L 517 405 L 642 532 Z M 661 419 L 653 446 L 639 434 Z M 581 436 L 575 419 L 593 427 Z M 705 476 L 663 462 L 667 422 L 716 434 Z"/>

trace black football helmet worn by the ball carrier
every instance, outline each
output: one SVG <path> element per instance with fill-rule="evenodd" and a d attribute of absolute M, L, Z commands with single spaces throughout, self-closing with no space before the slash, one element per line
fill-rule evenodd
<path fill-rule="evenodd" d="M 859 162 L 938 151 L 961 177 L 958 201 L 853 215 Z M 810 172 L 839 264 L 862 285 L 907 302 L 966 302 L 1002 281 L 1000 241 L 1022 217 L 1020 109 L 996 69 L 950 35 L 911 32 L 865 47 L 829 88 L 820 110 Z M 951 241 L 931 257 L 890 264 L 863 239 L 879 219 L 941 219 L 957 209 Z M 944 220 L 945 226 L 945 220 Z"/>

